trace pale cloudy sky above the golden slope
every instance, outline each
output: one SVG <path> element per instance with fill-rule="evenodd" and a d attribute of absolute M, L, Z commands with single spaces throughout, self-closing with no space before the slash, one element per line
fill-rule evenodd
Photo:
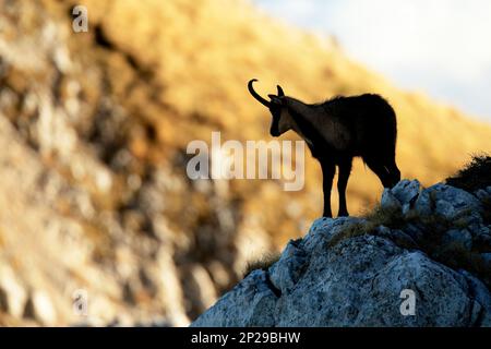
<path fill-rule="evenodd" d="M 252 0 L 396 85 L 491 122 L 490 0 Z"/>

